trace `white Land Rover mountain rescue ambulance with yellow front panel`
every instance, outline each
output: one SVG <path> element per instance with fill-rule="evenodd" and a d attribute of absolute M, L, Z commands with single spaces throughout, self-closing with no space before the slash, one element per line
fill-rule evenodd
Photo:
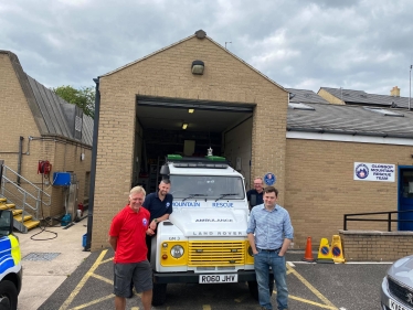
<path fill-rule="evenodd" d="M 166 301 L 173 282 L 248 282 L 257 298 L 242 174 L 214 156 L 168 156 L 160 173 L 171 181 L 173 213 L 152 238 L 152 304 Z"/>

